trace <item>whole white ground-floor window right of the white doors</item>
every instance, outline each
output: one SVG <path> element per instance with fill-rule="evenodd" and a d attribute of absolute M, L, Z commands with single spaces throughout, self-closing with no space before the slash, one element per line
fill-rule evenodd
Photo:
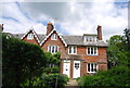
<path fill-rule="evenodd" d="M 96 63 L 87 63 L 87 73 L 95 73 L 98 71 Z"/>

